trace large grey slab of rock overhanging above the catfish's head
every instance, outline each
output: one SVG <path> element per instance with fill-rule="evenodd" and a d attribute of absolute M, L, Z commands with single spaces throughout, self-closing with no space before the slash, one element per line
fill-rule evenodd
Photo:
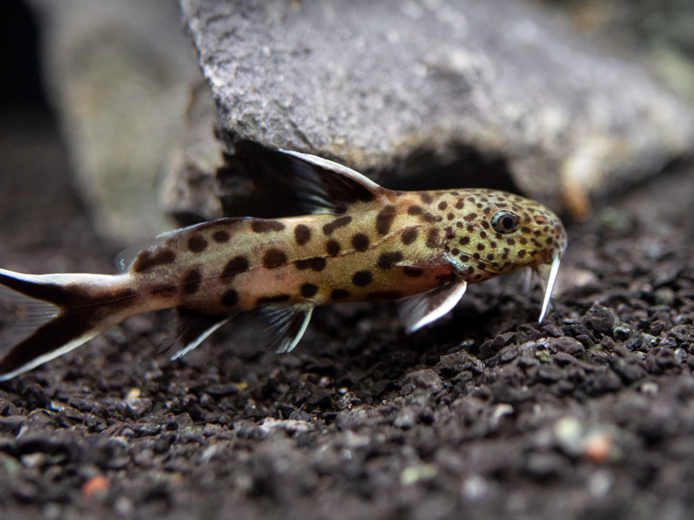
<path fill-rule="evenodd" d="M 485 185 L 507 170 L 580 214 L 586 193 L 635 182 L 694 142 L 691 107 L 640 64 L 525 3 L 181 6 L 230 149 L 315 153 L 401 189 Z"/>

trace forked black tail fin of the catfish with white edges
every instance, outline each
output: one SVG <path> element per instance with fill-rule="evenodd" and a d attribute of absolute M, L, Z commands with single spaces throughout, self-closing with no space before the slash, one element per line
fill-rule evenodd
<path fill-rule="evenodd" d="M 127 281 L 128 275 L 23 275 L 0 269 L 0 289 L 15 311 L 10 333 L 19 336 L 17 343 L 0 344 L 0 381 L 139 313 Z"/>

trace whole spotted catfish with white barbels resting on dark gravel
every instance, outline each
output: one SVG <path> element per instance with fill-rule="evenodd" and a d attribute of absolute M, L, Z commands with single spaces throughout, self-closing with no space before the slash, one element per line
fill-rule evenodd
<path fill-rule="evenodd" d="M 0 284 L 24 295 L 26 329 L 0 347 L 0 380 L 169 307 L 178 313 L 174 358 L 256 307 L 277 352 L 294 348 L 315 306 L 333 302 L 403 299 L 412 332 L 450 311 L 468 284 L 551 263 L 542 320 L 566 246 L 549 209 L 489 189 L 392 191 L 335 162 L 284 155 L 310 215 L 221 218 L 164 233 L 126 255 L 119 275 L 0 270 Z"/>

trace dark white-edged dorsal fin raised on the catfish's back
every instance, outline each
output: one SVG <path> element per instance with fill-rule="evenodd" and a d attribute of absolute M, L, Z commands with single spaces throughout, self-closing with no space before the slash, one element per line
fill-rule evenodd
<path fill-rule="evenodd" d="M 371 202 L 386 191 L 368 177 L 337 162 L 307 153 L 280 152 L 291 162 L 296 175 L 296 191 L 311 213 L 344 214 L 350 205 Z"/>

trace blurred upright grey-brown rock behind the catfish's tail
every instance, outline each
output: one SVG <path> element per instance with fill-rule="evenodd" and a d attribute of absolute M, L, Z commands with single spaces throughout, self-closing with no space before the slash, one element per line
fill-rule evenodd
<path fill-rule="evenodd" d="M 31 0 L 49 97 L 76 184 L 102 236 L 132 242 L 174 223 L 162 211 L 200 77 L 175 0 Z M 210 132 L 212 130 L 210 129 Z"/>

